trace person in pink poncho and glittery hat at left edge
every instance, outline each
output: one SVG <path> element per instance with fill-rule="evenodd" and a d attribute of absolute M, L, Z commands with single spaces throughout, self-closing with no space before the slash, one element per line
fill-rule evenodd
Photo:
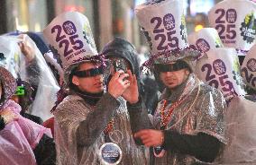
<path fill-rule="evenodd" d="M 55 145 L 50 130 L 21 116 L 21 107 L 11 100 L 16 91 L 16 81 L 2 66 L 0 81 L 1 163 L 55 164 Z"/>

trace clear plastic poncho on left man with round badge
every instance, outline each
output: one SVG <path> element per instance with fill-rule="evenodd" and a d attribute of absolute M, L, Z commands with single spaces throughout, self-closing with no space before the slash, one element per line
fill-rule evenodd
<path fill-rule="evenodd" d="M 133 140 L 125 101 L 122 98 L 119 98 L 119 101 L 121 105 L 114 113 L 114 131 L 120 131 L 123 134 L 123 140 L 121 143 L 117 143 L 123 152 L 122 161 L 119 164 L 145 165 L 147 161 L 144 148 L 136 145 Z M 93 110 L 94 108 L 78 95 L 69 95 L 54 111 L 57 160 L 59 160 L 57 163 L 65 162 L 69 165 L 100 164 L 99 149 L 105 143 L 103 132 L 97 137 L 95 143 L 89 146 L 78 145 L 78 126 L 87 119 L 88 114 Z"/>

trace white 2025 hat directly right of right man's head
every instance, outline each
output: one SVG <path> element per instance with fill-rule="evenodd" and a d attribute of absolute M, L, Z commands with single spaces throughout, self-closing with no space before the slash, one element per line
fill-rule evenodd
<path fill-rule="evenodd" d="M 197 75 L 203 82 L 223 92 L 225 100 L 233 96 L 244 95 L 242 77 L 236 50 L 234 48 L 216 48 L 209 50 L 197 62 Z"/>

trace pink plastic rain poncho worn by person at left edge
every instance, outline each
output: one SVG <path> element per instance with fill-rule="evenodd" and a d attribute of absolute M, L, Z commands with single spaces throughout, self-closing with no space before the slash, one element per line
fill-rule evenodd
<path fill-rule="evenodd" d="M 7 100 L 3 109 L 12 110 L 18 119 L 8 123 L 0 131 L 0 164 L 35 165 L 36 160 L 32 150 L 43 134 L 51 137 L 50 129 L 22 117 L 21 107 L 13 100 Z"/>

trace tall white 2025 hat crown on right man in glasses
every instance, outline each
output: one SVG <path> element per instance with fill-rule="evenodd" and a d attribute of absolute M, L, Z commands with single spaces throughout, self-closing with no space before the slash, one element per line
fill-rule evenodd
<path fill-rule="evenodd" d="M 136 6 L 135 13 L 152 54 L 167 49 L 187 48 L 187 28 L 183 11 L 183 1 L 180 0 Z"/>

